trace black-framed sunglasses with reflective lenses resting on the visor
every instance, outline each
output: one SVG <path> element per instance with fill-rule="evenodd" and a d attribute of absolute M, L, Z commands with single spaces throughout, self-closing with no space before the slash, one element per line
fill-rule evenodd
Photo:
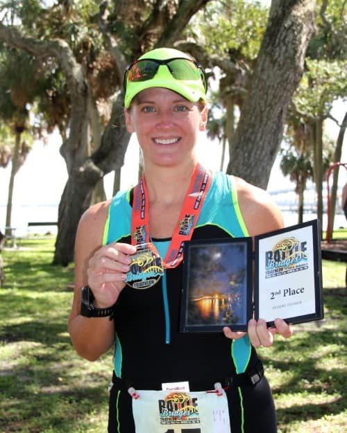
<path fill-rule="evenodd" d="M 167 66 L 175 80 L 202 80 L 205 93 L 207 92 L 208 82 L 203 67 L 196 60 L 187 58 L 134 60 L 126 67 L 124 73 L 124 92 L 127 82 L 140 82 L 154 78 L 162 64 Z"/>

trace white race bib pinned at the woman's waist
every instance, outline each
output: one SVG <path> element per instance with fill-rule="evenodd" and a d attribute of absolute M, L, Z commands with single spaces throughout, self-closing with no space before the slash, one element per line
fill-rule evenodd
<path fill-rule="evenodd" d="M 136 391 L 136 433 L 231 433 L 228 400 L 216 391 Z"/>

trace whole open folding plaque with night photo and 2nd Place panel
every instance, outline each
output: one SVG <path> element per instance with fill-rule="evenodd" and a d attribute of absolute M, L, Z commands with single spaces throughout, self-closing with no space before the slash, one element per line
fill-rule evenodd
<path fill-rule="evenodd" d="M 253 312 L 268 327 L 323 319 L 319 220 L 255 236 L 254 260 L 251 237 L 185 242 L 180 332 L 246 331 Z"/>

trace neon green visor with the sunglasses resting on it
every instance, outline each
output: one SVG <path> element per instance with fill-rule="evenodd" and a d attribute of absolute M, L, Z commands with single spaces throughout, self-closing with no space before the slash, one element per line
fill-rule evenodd
<path fill-rule="evenodd" d="M 201 65 L 174 48 L 156 48 L 130 63 L 124 74 L 124 106 L 140 91 L 164 87 L 191 102 L 206 101 L 207 80 Z"/>

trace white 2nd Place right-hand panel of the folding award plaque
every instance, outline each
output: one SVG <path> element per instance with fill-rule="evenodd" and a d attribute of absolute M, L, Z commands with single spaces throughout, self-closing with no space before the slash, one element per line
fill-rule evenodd
<path fill-rule="evenodd" d="M 255 319 L 323 319 L 319 220 L 255 236 Z"/>

